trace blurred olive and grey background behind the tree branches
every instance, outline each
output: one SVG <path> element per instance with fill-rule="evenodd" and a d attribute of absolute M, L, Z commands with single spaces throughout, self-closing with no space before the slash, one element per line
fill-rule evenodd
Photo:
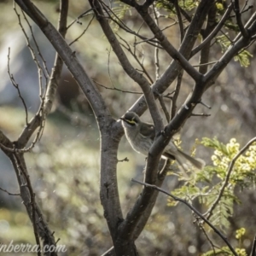
<path fill-rule="evenodd" d="M 10 73 L 19 84 L 20 93 L 29 110 L 29 118 L 37 112 L 40 102 L 38 70 L 26 47 L 26 39 L 18 24 L 13 3 L 0 2 L 2 10 L 0 15 L 0 130 L 9 139 L 15 141 L 26 124 L 26 115 L 17 90 L 9 81 L 9 49 Z M 251 2 L 248 4 L 253 4 L 253 1 Z M 59 8 L 57 1 L 37 1 L 36 5 L 53 24 L 57 24 Z M 116 8 L 120 7 L 117 5 Z M 17 9 L 20 12 L 18 7 Z M 86 1 L 70 1 L 68 24 L 88 9 L 90 6 Z M 247 20 L 254 11 L 255 7 L 243 16 L 244 20 Z M 22 15 L 20 17 L 31 38 L 26 21 Z M 76 51 L 90 78 L 97 82 L 98 89 L 102 92 L 113 117 L 118 119 L 140 96 L 119 90 L 136 92 L 141 90 L 125 75 L 97 21 L 91 19 L 91 15 L 86 15 L 80 20 L 81 23 L 75 22 L 67 31 L 67 42 L 73 42 L 90 24 L 84 36 L 79 38 L 72 48 Z M 131 12 L 127 12 L 123 19 L 134 30 L 141 24 L 141 20 L 132 16 Z M 112 26 L 115 25 L 112 24 Z M 115 29 L 120 37 L 124 36 L 127 42 L 131 40 L 133 44 L 134 37 L 125 35 L 118 30 L 118 27 Z M 32 31 L 50 71 L 55 50 L 38 27 L 33 24 Z M 142 33 L 148 35 L 145 27 L 142 27 Z M 177 26 L 167 29 L 166 36 L 178 48 Z M 35 47 L 34 44 L 32 46 Z M 140 52 L 140 57 L 144 58 L 143 65 L 148 74 L 155 80 L 152 48 L 147 44 L 138 44 L 137 50 Z M 255 44 L 249 48 L 249 51 L 255 55 Z M 221 55 L 221 48 L 215 45 L 212 47 L 209 61 L 217 61 Z M 131 56 L 130 59 L 136 66 Z M 160 74 L 164 72 L 170 61 L 172 60 L 169 56 L 160 53 Z M 202 137 L 217 137 L 219 141 L 228 143 L 230 138 L 236 137 L 237 142 L 243 146 L 255 136 L 256 73 L 254 67 L 256 60 L 252 57 L 250 61 L 251 65 L 247 68 L 241 67 L 237 61 L 231 61 L 216 83 L 204 94 L 202 101 L 211 106 L 211 109 L 199 105 L 195 108 L 195 113 L 209 113 L 211 116 L 188 119 L 180 132 L 182 148 L 185 151 L 189 152 L 195 146 L 197 138 L 201 140 Z M 192 60 L 192 63 L 197 64 L 197 62 L 198 55 Z M 109 90 L 100 84 L 119 90 Z M 183 104 L 193 86 L 193 80 L 186 74 L 184 74 L 182 86 L 177 107 Z M 175 83 L 167 92 L 172 92 L 174 88 Z M 166 106 L 170 105 L 171 102 L 166 100 Z M 148 112 L 143 115 L 143 120 L 151 121 Z M 206 150 L 198 146 L 196 155 L 204 159 L 207 164 L 211 164 L 210 149 Z M 129 161 L 119 162 L 118 165 L 119 193 L 124 215 L 132 207 L 142 189 L 137 184 L 131 183 L 131 177 L 142 180 L 145 163 L 144 156 L 132 151 L 123 138 L 119 148 L 119 160 L 125 157 Z M 99 132 L 90 105 L 80 93 L 66 67 L 63 69 L 54 109 L 46 122 L 44 136 L 32 152 L 26 154 L 26 163 L 38 202 L 49 222 L 49 228 L 55 231 L 56 239 L 60 238 L 58 243 L 67 246 L 67 253 L 60 255 L 101 255 L 108 250 L 111 247 L 111 239 L 99 198 Z M 2 152 L 0 152 L 0 175 L 2 189 L 19 193 L 15 172 Z M 164 188 L 172 191 L 177 185 L 177 178 L 167 177 Z M 231 229 L 227 236 L 236 244 L 234 230 L 245 226 L 247 237 L 243 243 L 244 247 L 249 248 L 254 235 L 256 213 L 255 207 L 252 206 L 256 201 L 256 195 L 253 190 L 246 189 L 242 193 L 240 191 L 237 193 L 244 204 L 243 207 L 234 209 L 234 218 L 230 219 Z M 181 204 L 177 207 L 167 207 L 166 202 L 166 196 L 160 195 L 146 229 L 137 240 L 139 253 L 141 255 L 199 255 L 205 252 L 209 245 L 201 230 L 193 224 L 193 216 L 189 209 Z M 0 191 L 0 242 L 9 244 L 11 240 L 15 243 L 35 244 L 32 224 L 20 197 Z"/>

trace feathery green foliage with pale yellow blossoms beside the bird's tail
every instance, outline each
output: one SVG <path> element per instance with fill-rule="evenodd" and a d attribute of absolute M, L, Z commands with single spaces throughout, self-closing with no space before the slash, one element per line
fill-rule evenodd
<path fill-rule="evenodd" d="M 234 204 L 241 203 L 235 195 L 235 188 L 250 188 L 256 183 L 256 144 L 253 143 L 246 154 L 239 156 L 233 168 L 230 168 L 230 164 L 240 150 L 240 144 L 235 138 L 225 145 L 217 138 L 204 137 L 201 144 L 214 149 L 212 165 L 206 166 L 201 172 L 192 173 L 191 179 L 172 191 L 172 194 L 190 203 L 198 199 L 202 207 L 207 209 L 206 215 L 210 214 L 212 224 L 227 230 Z M 216 201 L 218 204 L 215 206 Z M 169 201 L 170 206 L 176 204 L 175 201 Z"/>

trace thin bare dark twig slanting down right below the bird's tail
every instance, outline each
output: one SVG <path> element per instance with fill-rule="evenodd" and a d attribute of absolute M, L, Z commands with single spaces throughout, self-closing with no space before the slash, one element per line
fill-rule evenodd
<path fill-rule="evenodd" d="M 148 184 L 148 183 L 143 183 L 143 182 L 137 181 L 137 180 L 134 179 L 134 178 L 131 178 L 131 181 L 132 181 L 132 182 L 135 182 L 135 183 L 142 184 L 142 185 L 144 185 L 145 187 L 148 187 L 148 188 L 156 189 L 156 190 L 158 190 L 158 191 L 160 191 L 160 192 L 162 192 L 162 193 L 164 193 L 164 194 L 166 194 L 166 195 L 171 196 L 174 201 L 180 201 L 180 202 L 182 202 L 184 205 L 186 205 L 187 207 L 189 207 L 190 210 L 192 210 L 193 212 L 195 212 L 195 214 L 198 215 L 205 223 L 207 223 L 207 224 L 212 228 L 212 230 L 214 230 L 214 232 L 215 232 L 215 233 L 225 242 L 225 244 L 230 248 L 230 251 L 231 251 L 232 253 L 234 253 L 234 255 L 238 256 L 237 253 L 236 253 L 236 251 L 235 251 L 235 249 L 230 245 L 230 242 L 227 240 L 227 237 L 224 236 L 218 229 L 216 229 L 215 226 L 214 226 L 211 222 L 209 222 L 208 219 L 203 216 L 203 214 L 201 214 L 201 212 L 198 212 L 198 211 L 195 209 L 195 207 L 192 207 L 192 206 L 189 204 L 188 201 L 185 201 L 185 200 L 183 200 L 182 198 L 177 197 L 176 195 L 172 195 L 172 194 L 168 193 L 166 190 L 161 189 L 161 188 L 159 188 L 159 187 L 157 187 L 157 186 L 155 186 L 155 185 L 151 185 L 151 184 Z"/>

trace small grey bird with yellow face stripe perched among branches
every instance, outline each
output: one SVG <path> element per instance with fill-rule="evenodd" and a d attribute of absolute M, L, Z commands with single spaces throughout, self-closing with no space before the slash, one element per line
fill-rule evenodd
<path fill-rule="evenodd" d="M 149 148 L 154 142 L 154 125 L 143 123 L 137 113 L 134 112 L 127 112 L 120 119 L 125 129 L 125 136 L 131 147 L 138 153 L 148 155 Z M 189 154 L 184 153 L 172 141 L 166 146 L 162 156 L 177 160 L 177 163 L 184 169 L 186 169 L 186 161 L 197 169 L 202 169 L 205 166 L 203 160 L 195 159 Z"/>

